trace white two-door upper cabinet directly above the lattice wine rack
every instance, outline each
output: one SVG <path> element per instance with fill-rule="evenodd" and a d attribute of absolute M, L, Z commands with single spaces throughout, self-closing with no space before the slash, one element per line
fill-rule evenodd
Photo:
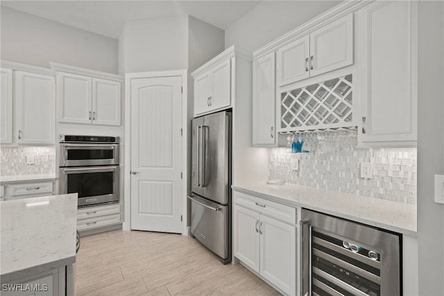
<path fill-rule="evenodd" d="M 278 86 L 352 65 L 353 15 L 280 47 L 277 63 Z"/>

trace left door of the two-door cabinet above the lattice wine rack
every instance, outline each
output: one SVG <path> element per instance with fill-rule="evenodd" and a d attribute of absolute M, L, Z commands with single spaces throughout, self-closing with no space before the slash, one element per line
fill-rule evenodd
<path fill-rule="evenodd" d="M 278 49 L 276 53 L 278 86 L 300 81 L 310 76 L 309 45 L 310 38 L 307 35 Z"/>

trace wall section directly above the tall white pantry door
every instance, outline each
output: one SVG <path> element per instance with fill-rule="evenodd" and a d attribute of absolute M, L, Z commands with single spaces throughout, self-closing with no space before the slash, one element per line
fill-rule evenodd
<path fill-rule="evenodd" d="M 125 22 L 119 42 L 119 73 L 187 69 L 188 18 Z"/>

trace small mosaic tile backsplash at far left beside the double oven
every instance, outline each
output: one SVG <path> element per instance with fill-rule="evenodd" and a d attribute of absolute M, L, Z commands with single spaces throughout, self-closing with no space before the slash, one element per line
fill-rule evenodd
<path fill-rule="evenodd" d="M 18 174 L 55 174 L 55 147 L 1 147 L 0 176 Z M 34 164 L 26 164 L 26 156 L 34 156 Z"/>

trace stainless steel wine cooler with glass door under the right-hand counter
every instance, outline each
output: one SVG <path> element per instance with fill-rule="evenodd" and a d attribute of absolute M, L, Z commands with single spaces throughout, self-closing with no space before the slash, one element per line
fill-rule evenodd
<path fill-rule="evenodd" d="M 402 236 L 302 209 L 300 295 L 402 295 Z"/>

